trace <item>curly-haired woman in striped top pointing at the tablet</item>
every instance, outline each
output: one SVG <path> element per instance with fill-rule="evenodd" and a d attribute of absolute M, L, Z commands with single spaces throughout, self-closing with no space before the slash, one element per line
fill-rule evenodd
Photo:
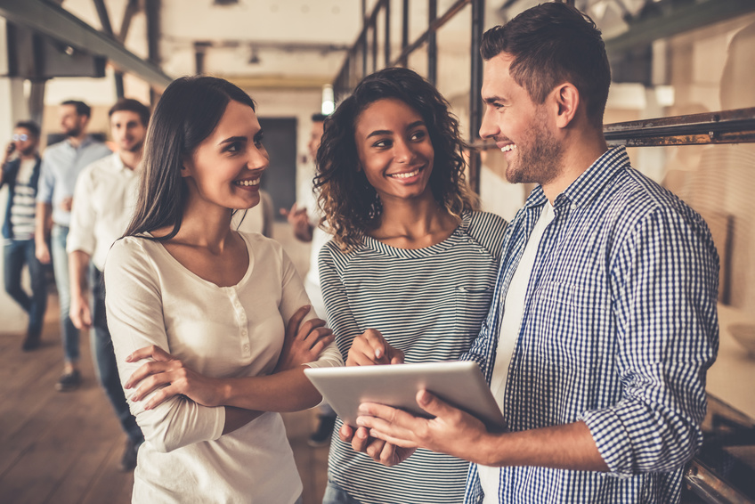
<path fill-rule="evenodd" d="M 334 238 L 320 278 L 347 365 L 457 360 L 477 336 L 506 222 L 475 211 L 464 147 L 448 102 L 410 69 L 365 77 L 326 120 L 315 184 Z M 365 443 L 369 455 L 333 436 L 324 504 L 463 500 L 467 462 L 418 450 L 384 467 L 372 459 L 394 446 Z"/>

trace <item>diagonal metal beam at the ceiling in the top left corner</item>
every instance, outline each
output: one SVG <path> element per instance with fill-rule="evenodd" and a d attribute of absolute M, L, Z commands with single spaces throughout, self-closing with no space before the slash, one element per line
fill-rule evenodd
<path fill-rule="evenodd" d="M 104 56 L 119 70 L 141 77 L 160 91 L 173 80 L 158 65 L 142 60 L 114 37 L 92 28 L 70 12 L 44 0 L 0 0 L 0 16 L 81 51 Z"/>

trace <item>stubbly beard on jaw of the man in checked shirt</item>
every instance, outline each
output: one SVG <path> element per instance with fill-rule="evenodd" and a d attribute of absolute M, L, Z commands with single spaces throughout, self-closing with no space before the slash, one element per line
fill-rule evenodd
<path fill-rule="evenodd" d="M 527 143 L 517 143 L 519 156 L 506 168 L 506 179 L 510 183 L 551 182 L 561 172 L 564 152 L 548 127 L 545 118 L 538 115 L 527 130 Z"/>

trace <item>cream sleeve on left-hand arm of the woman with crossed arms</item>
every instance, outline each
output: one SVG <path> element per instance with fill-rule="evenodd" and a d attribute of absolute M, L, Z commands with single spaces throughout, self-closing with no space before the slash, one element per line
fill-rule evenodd
<path fill-rule="evenodd" d="M 105 305 L 121 384 L 145 362 L 126 362 L 139 348 L 156 345 L 170 352 L 163 318 L 162 293 L 157 268 L 144 250 L 142 239 L 118 240 L 105 264 Z M 131 412 L 145 439 L 158 451 L 168 452 L 191 443 L 211 441 L 223 434 L 224 408 L 208 408 L 175 396 L 152 410 L 144 404 L 155 394 L 134 402 L 135 389 L 125 389 Z"/>

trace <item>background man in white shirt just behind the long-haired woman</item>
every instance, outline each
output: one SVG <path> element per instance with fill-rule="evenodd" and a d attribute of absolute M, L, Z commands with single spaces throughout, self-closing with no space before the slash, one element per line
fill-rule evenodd
<path fill-rule="evenodd" d="M 142 430 L 128 409 L 105 316 L 102 271 L 110 246 L 126 231 L 136 205 L 142 149 L 150 110 L 124 98 L 110 109 L 110 132 L 118 151 L 95 161 L 79 175 L 68 240 L 70 318 L 78 329 L 90 329 L 94 368 L 108 394 L 128 441 L 121 467 L 136 466 Z M 87 273 L 92 304 L 87 299 Z"/>

